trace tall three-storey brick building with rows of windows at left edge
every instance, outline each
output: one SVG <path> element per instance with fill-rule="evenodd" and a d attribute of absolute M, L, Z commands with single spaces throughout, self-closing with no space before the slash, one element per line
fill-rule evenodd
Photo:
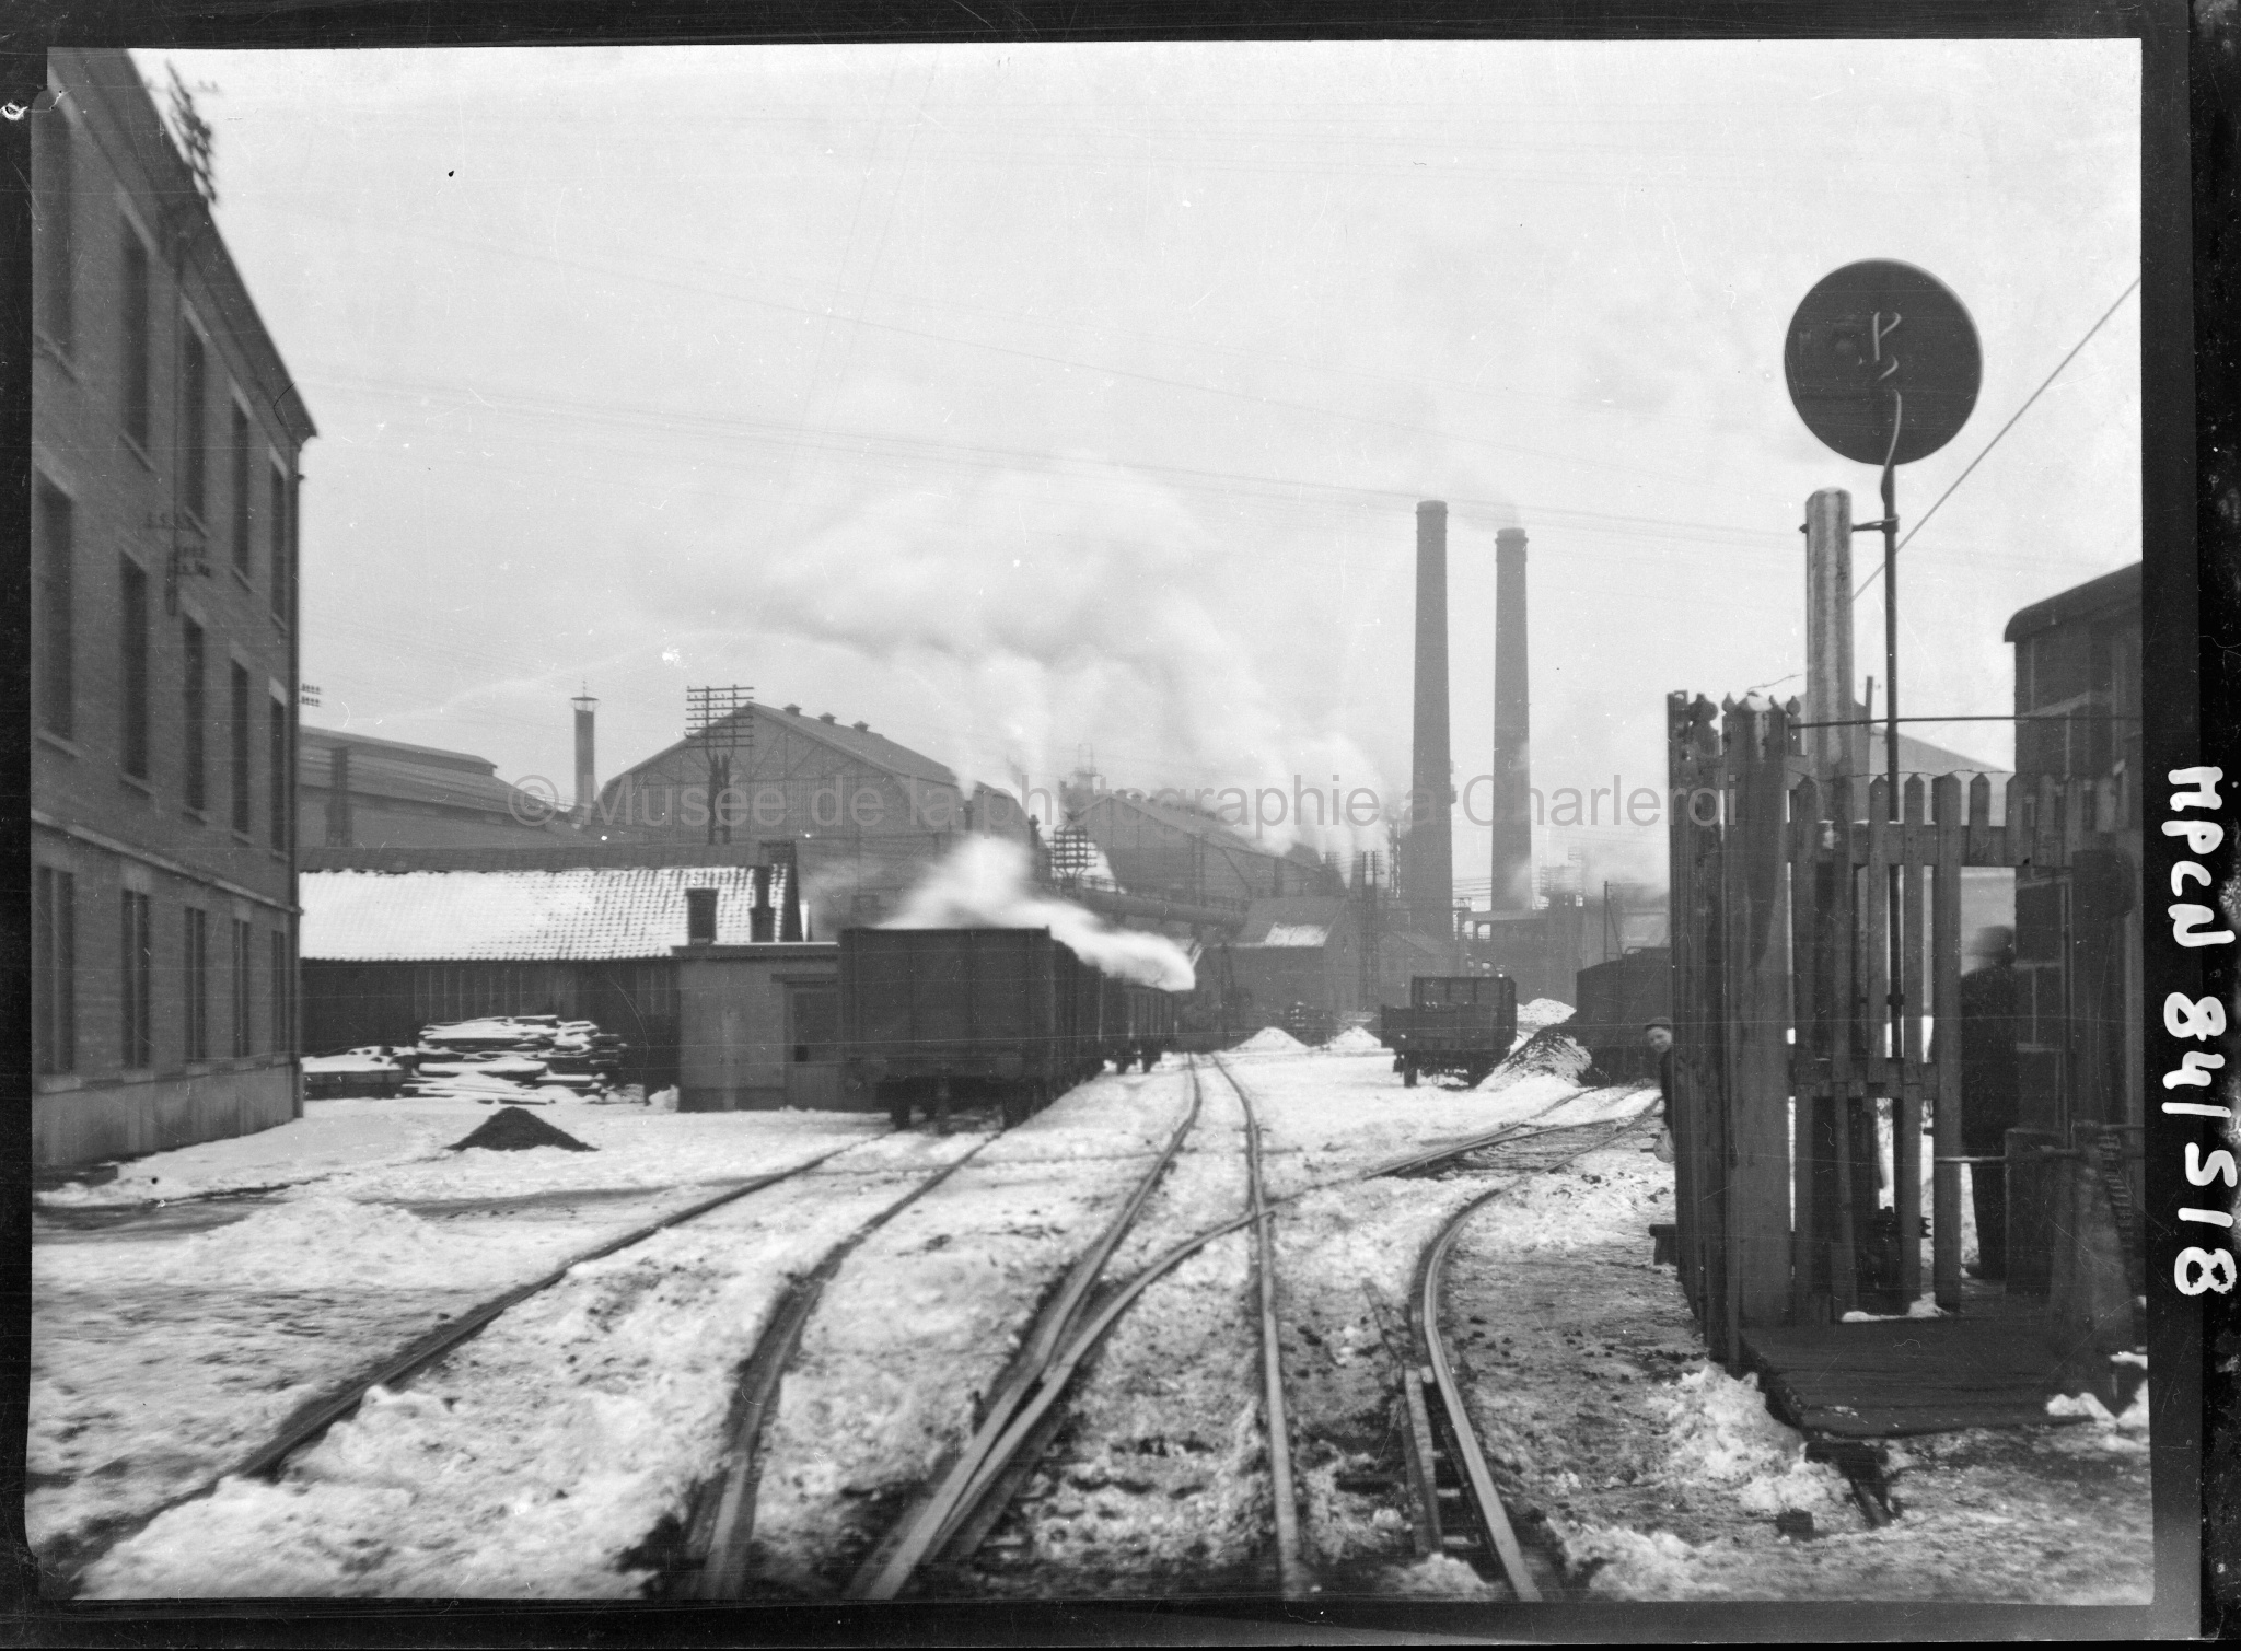
<path fill-rule="evenodd" d="M 298 1109 L 298 455 L 311 417 L 125 52 L 34 116 L 34 1151 Z"/>

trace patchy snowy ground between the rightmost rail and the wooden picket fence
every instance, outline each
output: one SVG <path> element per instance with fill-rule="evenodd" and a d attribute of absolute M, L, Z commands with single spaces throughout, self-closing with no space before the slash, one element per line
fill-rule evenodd
<path fill-rule="evenodd" d="M 1672 1270 L 1649 1263 L 1645 1228 L 1670 1212 L 1665 1165 L 1589 1154 L 1475 1216 L 1450 1272 L 1450 1346 L 1504 1499 L 1549 1521 L 1589 1597 L 2147 1599 L 2140 1429 L 1907 1440 L 1905 1512 L 1867 1530 L 1757 1384 L 1703 1362 Z M 1817 1537 L 1782 1537 L 1779 1512 Z"/>

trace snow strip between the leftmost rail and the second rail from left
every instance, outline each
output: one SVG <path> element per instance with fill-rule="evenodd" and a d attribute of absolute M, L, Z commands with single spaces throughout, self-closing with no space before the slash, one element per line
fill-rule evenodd
<path fill-rule="evenodd" d="M 636 1595 L 632 1550 L 710 1472 L 784 1284 L 975 1145 L 876 1138 L 576 1268 L 278 1483 L 229 1479 L 119 1543 L 85 1591 Z"/>

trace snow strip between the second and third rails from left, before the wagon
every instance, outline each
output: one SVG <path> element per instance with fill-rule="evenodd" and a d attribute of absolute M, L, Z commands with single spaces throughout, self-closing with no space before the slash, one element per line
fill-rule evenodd
<path fill-rule="evenodd" d="M 1006 1131 L 827 1286 L 764 1434 L 751 1566 L 834 1595 L 973 1431 L 1035 1304 L 1190 1104 L 1179 1066 L 1096 1078 Z"/>

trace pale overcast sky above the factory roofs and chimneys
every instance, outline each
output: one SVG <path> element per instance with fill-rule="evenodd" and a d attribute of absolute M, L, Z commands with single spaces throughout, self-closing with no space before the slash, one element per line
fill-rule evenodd
<path fill-rule="evenodd" d="M 1457 784 L 1524 526 L 1535 786 L 1658 786 L 1670 690 L 1800 690 L 1806 495 L 1878 513 L 1782 376 L 1862 258 L 1983 349 L 1909 526 L 2116 305 L 1900 556 L 1900 712 L 2012 710 L 2008 616 L 2140 558 L 2129 40 L 166 58 L 318 423 L 307 721 L 560 795 L 571 694 L 605 777 L 744 683 L 1015 789 L 1398 802 L 1428 497 Z M 1569 840 L 1663 874 L 1663 827 Z"/>

